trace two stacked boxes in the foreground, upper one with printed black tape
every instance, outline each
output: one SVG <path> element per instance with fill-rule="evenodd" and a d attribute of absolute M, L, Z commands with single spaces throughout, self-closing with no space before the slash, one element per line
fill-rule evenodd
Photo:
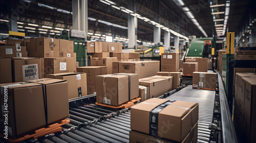
<path fill-rule="evenodd" d="M 156 98 L 132 106 L 130 142 L 197 142 L 198 107 Z"/>

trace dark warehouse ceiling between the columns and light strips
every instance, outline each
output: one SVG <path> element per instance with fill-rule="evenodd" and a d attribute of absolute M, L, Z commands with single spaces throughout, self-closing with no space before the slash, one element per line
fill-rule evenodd
<path fill-rule="evenodd" d="M 128 1 L 128 0 L 127 0 Z M 113 0 L 116 6 L 127 8 L 127 1 Z M 176 1 L 176 0 L 174 0 Z M 182 7 L 174 1 L 136 0 L 136 13 L 141 16 L 155 19 L 160 18 L 159 23 L 182 35 L 196 35 L 204 37 L 203 33 L 184 14 Z M 28 3 L 30 2 L 30 3 Z M 203 0 L 183 0 L 186 7 L 195 16 L 198 23 L 206 32 L 208 37 L 216 34 L 215 23 L 210 9 L 210 1 Z M 214 1 L 216 3 L 216 0 Z M 218 4 L 225 4 L 226 1 L 217 1 Z M 230 13 L 228 19 L 229 31 L 238 31 L 241 21 L 246 18 L 248 7 L 251 1 L 231 0 Z M 19 22 L 34 23 L 41 26 L 72 29 L 72 0 L 24 0 L 24 1 L 1 1 L 1 19 L 17 16 Z M 23 7 L 23 8 L 22 8 Z M 219 7 L 219 11 L 225 11 L 225 7 Z M 115 35 L 127 38 L 127 14 L 109 5 L 96 0 L 88 0 L 88 17 L 90 33 L 105 35 Z M 221 18 L 221 17 L 220 17 Z M 223 18 L 223 17 L 222 17 Z M 103 22 L 99 22 L 103 20 Z M 115 23 L 123 28 L 106 25 L 105 22 Z M 0 22 L 0 31 L 8 31 L 7 23 Z M 23 28 L 24 28 L 23 27 Z M 138 18 L 138 39 L 143 41 L 153 41 L 154 26 Z M 163 37 L 163 30 L 162 30 Z M 161 39 L 163 41 L 163 39 Z"/>

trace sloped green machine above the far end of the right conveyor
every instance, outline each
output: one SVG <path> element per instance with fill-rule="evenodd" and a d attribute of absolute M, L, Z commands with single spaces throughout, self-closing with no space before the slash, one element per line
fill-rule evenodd
<path fill-rule="evenodd" d="M 186 57 L 207 57 L 211 54 L 211 47 L 215 47 L 215 38 L 195 38 L 191 40 Z"/>

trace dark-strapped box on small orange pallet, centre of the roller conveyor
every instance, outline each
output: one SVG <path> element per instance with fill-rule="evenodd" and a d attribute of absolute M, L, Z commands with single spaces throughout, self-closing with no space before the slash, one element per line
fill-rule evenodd
<path fill-rule="evenodd" d="M 127 93 L 126 92 L 127 88 Z M 139 92 L 138 74 L 110 74 L 96 76 L 97 102 L 118 106 L 137 98 Z"/>

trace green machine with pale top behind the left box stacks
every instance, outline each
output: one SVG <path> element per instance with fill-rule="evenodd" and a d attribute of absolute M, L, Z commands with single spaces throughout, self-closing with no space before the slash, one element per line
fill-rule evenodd
<path fill-rule="evenodd" d="M 76 61 L 79 66 L 87 66 L 87 41 L 81 36 L 75 37 L 71 35 L 71 31 L 61 31 L 60 39 L 74 41 L 74 53 L 76 53 Z M 79 31 L 80 32 L 80 31 Z"/>

